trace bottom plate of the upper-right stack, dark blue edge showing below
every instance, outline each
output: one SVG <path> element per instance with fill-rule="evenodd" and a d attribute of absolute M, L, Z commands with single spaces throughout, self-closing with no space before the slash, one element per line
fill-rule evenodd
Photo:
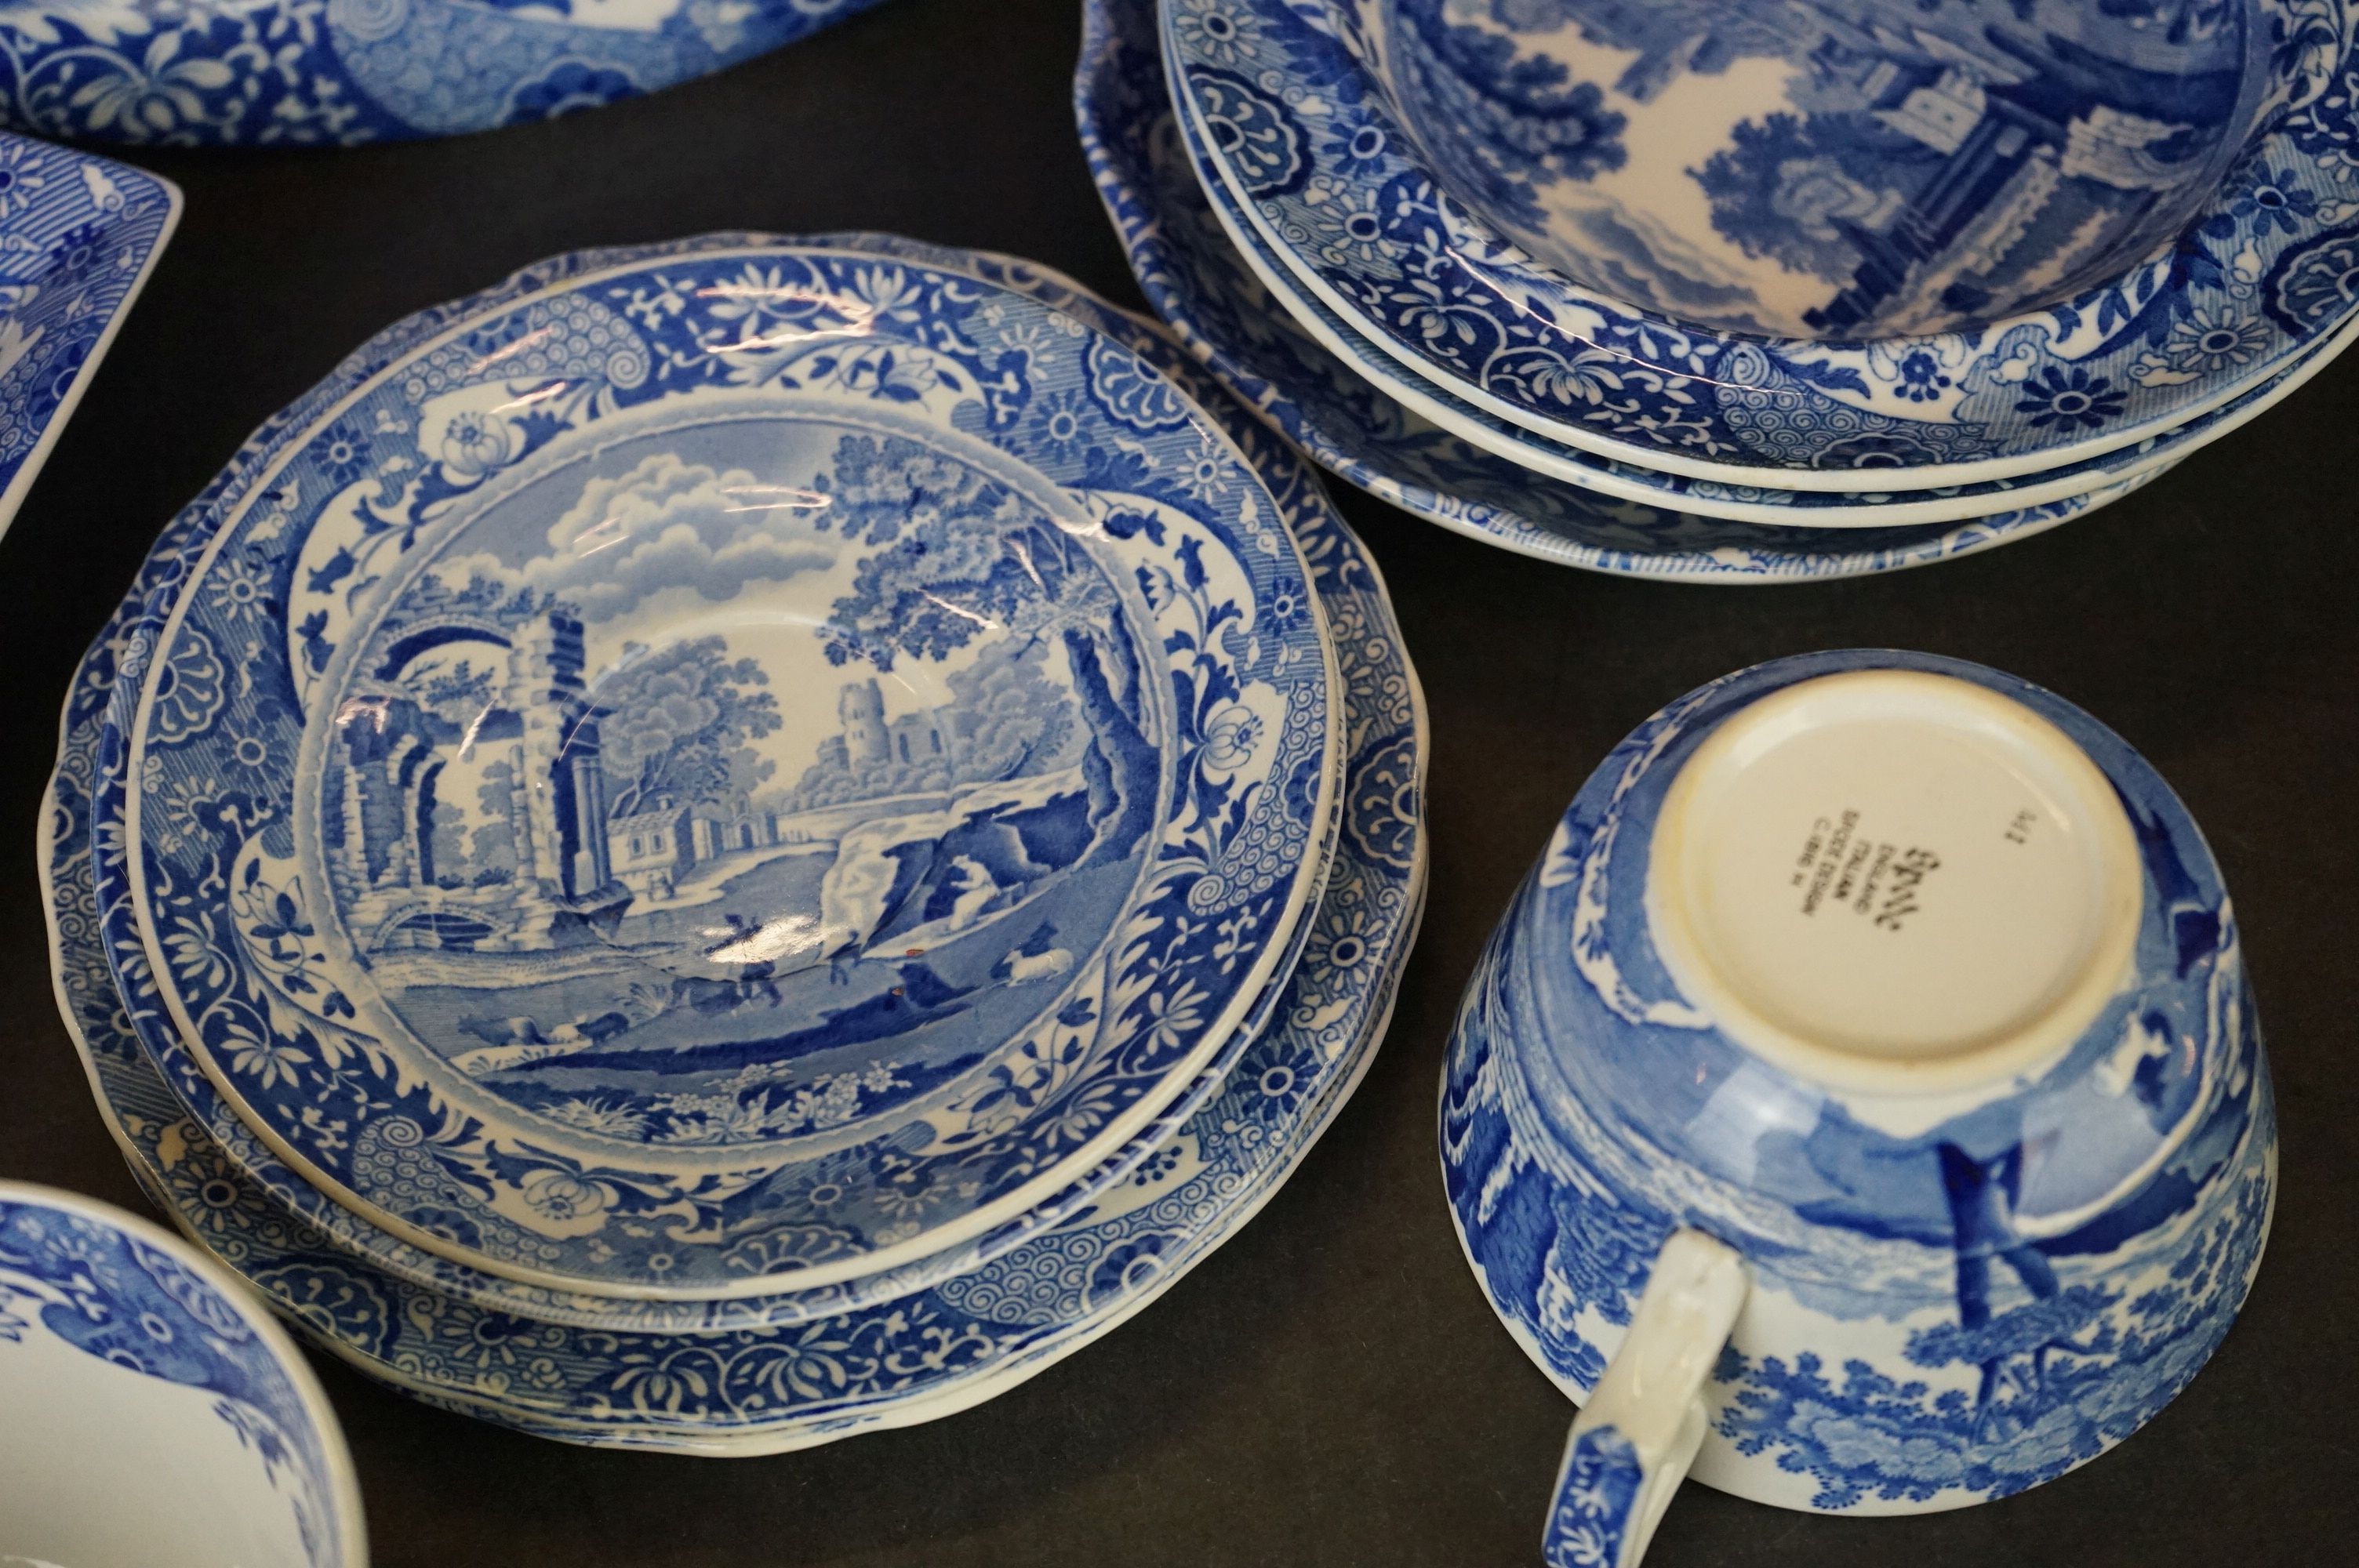
<path fill-rule="evenodd" d="M 1090 167 L 1132 271 L 1189 351 L 1321 465 L 1444 528 L 1621 575 L 1798 582 L 1972 554 L 2031 538 L 2135 488 L 1958 528 L 1826 538 L 1536 483 L 1522 465 L 1434 427 L 1371 387 L 1356 365 L 1272 299 L 1189 167 L 1163 85 L 1151 0 L 1090 0 L 1073 94 Z M 1366 358 L 1382 361 L 1382 354 L 1371 349 Z"/>

